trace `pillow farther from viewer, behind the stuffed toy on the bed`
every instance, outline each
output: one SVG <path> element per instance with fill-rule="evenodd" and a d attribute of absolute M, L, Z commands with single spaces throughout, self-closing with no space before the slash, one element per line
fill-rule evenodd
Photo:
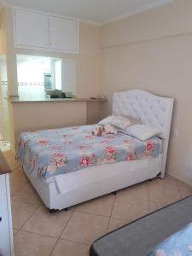
<path fill-rule="evenodd" d="M 119 129 L 125 129 L 137 123 L 137 119 L 128 115 L 109 115 L 106 119 L 102 119 L 98 125 L 113 125 Z"/>

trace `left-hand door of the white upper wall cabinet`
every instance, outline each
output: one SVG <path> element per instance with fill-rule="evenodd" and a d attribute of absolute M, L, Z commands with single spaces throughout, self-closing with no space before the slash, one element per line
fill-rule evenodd
<path fill-rule="evenodd" d="M 16 8 L 15 43 L 19 46 L 49 48 L 49 16 Z"/>

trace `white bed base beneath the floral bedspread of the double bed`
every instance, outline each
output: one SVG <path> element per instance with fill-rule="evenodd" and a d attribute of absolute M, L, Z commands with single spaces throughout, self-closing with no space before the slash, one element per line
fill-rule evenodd
<path fill-rule="evenodd" d="M 156 177 L 161 171 L 162 154 L 159 157 L 150 160 L 137 160 L 130 162 L 118 162 L 105 166 L 93 166 L 83 170 L 79 170 L 78 177 L 87 177 L 87 179 L 79 185 L 73 186 L 72 178 L 77 181 L 76 172 L 70 172 L 60 175 L 63 186 L 66 190 L 61 193 L 55 182 L 44 183 L 38 177 L 30 177 L 34 188 L 37 190 L 42 201 L 49 209 L 61 210 L 79 204 L 83 201 L 96 198 L 101 195 L 106 195 L 113 191 L 123 189 L 135 183 L 143 182 L 146 179 Z M 70 177 L 70 182 L 67 182 L 67 176 Z"/>

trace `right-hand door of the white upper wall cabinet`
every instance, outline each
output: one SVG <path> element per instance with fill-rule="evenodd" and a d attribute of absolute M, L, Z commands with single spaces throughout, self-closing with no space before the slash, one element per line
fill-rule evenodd
<path fill-rule="evenodd" d="M 78 51 L 78 21 L 49 16 L 50 49 Z"/>

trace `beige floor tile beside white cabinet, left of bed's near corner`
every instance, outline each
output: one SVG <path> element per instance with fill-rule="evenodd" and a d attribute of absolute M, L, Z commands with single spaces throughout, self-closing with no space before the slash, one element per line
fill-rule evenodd
<path fill-rule="evenodd" d="M 32 215 L 38 208 L 35 204 L 26 204 L 20 201 L 12 201 L 12 218 L 13 226 L 15 229 L 20 229 L 20 227 L 26 222 L 26 219 Z"/>

